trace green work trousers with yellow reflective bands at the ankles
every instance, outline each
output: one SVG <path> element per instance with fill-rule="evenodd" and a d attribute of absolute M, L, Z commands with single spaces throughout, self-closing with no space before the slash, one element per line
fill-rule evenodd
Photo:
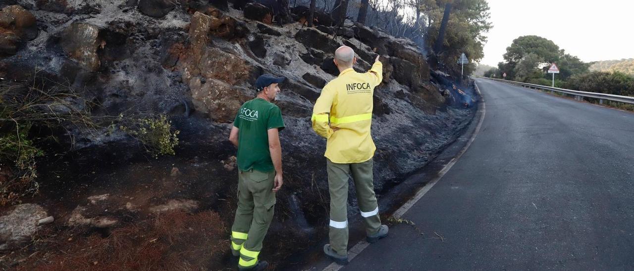
<path fill-rule="evenodd" d="M 238 208 L 231 227 L 231 249 L 240 253 L 238 267 L 252 267 L 273 220 L 275 171 L 238 170 Z"/>

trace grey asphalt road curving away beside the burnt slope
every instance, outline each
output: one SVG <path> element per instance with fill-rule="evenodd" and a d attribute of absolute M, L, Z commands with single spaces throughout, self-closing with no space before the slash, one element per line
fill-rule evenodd
<path fill-rule="evenodd" d="M 634 113 L 476 82 L 481 130 L 403 215 L 416 226 L 342 270 L 632 270 Z"/>

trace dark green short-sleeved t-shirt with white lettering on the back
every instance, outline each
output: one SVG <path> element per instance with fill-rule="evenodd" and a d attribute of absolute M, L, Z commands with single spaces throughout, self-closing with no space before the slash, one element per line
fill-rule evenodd
<path fill-rule="evenodd" d="M 269 151 L 268 129 L 284 129 L 281 111 L 275 104 L 256 98 L 242 104 L 233 121 L 238 131 L 238 168 L 261 172 L 275 170 Z"/>

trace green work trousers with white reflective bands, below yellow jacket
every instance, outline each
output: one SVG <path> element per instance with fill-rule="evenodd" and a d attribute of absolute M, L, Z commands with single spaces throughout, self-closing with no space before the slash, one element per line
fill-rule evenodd
<path fill-rule="evenodd" d="M 350 173 L 356 188 L 366 234 L 375 234 L 381 227 L 377 196 L 374 194 L 372 159 L 363 163 L 338 164 L 328 160 L 330 189 L 330 247 L 339 255 L 347 255 L 348 247 L 348 179 Z"/>

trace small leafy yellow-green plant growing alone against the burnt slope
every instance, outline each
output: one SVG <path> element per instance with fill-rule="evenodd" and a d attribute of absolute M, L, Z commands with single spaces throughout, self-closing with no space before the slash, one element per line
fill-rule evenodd
<path fill-rule="evenodd" d="M 120 118 L 123 116 L 120 115 Z M 165 115 L 134 118 L 119 129 L 136 138 L 154 158 L 159 155 L 174 155 L 178 145 L 179 130 L 172 129 L 172 122 Z"/>

